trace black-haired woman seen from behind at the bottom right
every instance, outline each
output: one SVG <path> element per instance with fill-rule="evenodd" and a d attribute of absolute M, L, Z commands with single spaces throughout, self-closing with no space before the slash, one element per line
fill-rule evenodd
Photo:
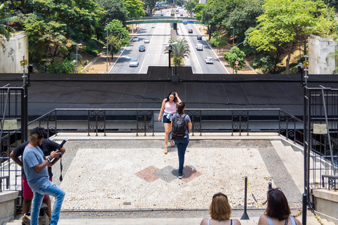
<path fill-rule="evenodd" d="M 291 217 L 287 198 L 280 188 L 268 191 L 268 205 L 265 213 L 259 217 L 258 225 L 301 225 L 301 222 Z"/>

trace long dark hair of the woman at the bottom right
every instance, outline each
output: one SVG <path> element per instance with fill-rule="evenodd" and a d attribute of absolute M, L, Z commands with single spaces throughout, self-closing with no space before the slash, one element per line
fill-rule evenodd
<path fill-rule="evenodd" d="M 273 188 L 268 191 L 268 206 L 265 214 L 278 220 L 287 219 L 291 214 L 287 198 L 279 189 Z"/>

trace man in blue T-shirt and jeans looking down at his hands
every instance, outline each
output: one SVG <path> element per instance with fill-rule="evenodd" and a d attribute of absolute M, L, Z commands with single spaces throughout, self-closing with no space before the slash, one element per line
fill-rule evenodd
<path fill-rule="evenodd" d="M 30 131 L 30 143 L 27 144 L 23 152 L 23 167 L 27 183 L 33 191 L 32 210 L 30 212 L 31 225 L 38 225 L 39 210 L 44 195 L 51 195 L 55 198 L 53 212 L 51 213 L 51 225 L 58 224 L 60 218 L 61 205 L 65 192 L 62 188 L 49 181 L 47 166 L 51 166 L 51 161 L 54 158 L 60 157 L 60 152 L 52 151 L 51 155 L 46 158 L 44 153 L 39 148 L 44 141 L 46 130 L 42 127 L 35 127 Z"/>

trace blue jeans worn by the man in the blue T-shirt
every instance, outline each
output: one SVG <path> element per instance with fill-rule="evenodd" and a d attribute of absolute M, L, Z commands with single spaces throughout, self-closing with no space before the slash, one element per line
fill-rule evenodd
<path fill-rule="evenodd" d="M 55 198 L 55 203 L 53 207 L 53 212 L 51 212 L 51 225 L 58 224 L 58 219 L 60 219 L 61 205 L 63 203 L 63 198 L 65 198 L 65 191 L 62 188 L 58 187 L 56 184 L 52 183 L 49 180 L 46 180 L 37 191 L 34 192 L 32 210 L 30 212 L 31 225 L 38 225 L 39 211 L 44 195 L 51 195 Z"/>

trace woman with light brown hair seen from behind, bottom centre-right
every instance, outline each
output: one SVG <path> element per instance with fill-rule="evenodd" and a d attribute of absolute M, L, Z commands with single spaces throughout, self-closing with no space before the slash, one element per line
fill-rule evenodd
<path fill-rule="evenodd" d="M 204 218 L 201 225 L 241 225 L 238 219 L 230 219 L 231 206 L 227 201 L 227 195 L 215 193 L 209 207 L 211 219 Z"/>

